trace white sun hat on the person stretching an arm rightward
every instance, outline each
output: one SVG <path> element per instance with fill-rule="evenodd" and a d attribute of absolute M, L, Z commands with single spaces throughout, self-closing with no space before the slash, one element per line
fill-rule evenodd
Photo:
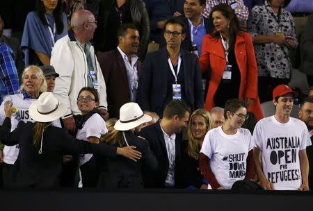
<path fill-rule="evenodd" d="M 66 110 L 67 105 L 59 102 L 52 92 L 43 92 L 29 106 L 29 116 L 35 121 L 49 122 L 62 117 Z"/>

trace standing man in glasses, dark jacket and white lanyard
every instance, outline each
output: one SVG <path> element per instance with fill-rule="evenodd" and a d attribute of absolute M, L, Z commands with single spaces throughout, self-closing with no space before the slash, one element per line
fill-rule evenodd
<path fill-rule="evenodd" d="M 183 100 L 191 110 L 203 108 L 203 90 L 198 57 L 181 49 L 186 37 L 177 18 L 164 26 L 166 48 L 147 54 L 139 74 L 138 104 L 143 110 L 163 115 L 172 99 Z"/>

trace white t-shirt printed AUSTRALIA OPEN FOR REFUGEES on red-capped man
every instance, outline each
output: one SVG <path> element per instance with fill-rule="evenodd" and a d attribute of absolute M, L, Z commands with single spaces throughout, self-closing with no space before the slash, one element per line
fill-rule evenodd
<path fill-rule="evenodd" d="M 261 119 L 255 126 L 253 140 L 262 151 L 264 176 L 275 189 L 298 189 L 302 184 L 299 151 L 311 145 L 303 121 L 290 117 L 286 124 L 274 116 Z"/>

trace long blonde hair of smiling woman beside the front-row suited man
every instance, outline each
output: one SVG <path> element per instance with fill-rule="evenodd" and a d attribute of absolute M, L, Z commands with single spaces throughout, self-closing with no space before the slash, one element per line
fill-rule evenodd
<path fill-rule="evenodd" d="M 193 132 L 191 131 L 191 126 L 193 124 L 193 118 L 195 116 L 201 116 L 204 118 L 205 125 L 207 126 L 207 130 L 205 131 L 205 133 L 207 133 L 207 131 L 211 130 L 213 124 L 212 124 L 212 119 L 211 119 L 210 113 L 203 108 L 195 110 L 190 117 L 190 121 L 188 124 L 187 153 L 189 156 L 191 156 L 191 158 L 195 158 L 198 160 L 199 154 L 200 154 L 200 147 L 201 147 L 200 146 L 200 140 L 196 139 L 193 136 Z"/>

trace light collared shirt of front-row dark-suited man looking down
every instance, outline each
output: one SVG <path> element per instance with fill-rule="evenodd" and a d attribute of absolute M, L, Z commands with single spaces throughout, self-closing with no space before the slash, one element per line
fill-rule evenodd
<path fill-rule="evenodd" d="M 166 187 L 174 187 L 175 185 L 175 139 L 176 139 L 176 134 L 171 134 L 168 135 L 167 133 L 164 132 L 161 121 L 160 121 L 160 126 L 161 130 L 163 132 L 163 137 L 164 141 L 166 143 L 166 151 L 168 153 L 168 162 L 169 162 L 169 167 L 168 167 L 168 175 L 166 176 Z"/>

